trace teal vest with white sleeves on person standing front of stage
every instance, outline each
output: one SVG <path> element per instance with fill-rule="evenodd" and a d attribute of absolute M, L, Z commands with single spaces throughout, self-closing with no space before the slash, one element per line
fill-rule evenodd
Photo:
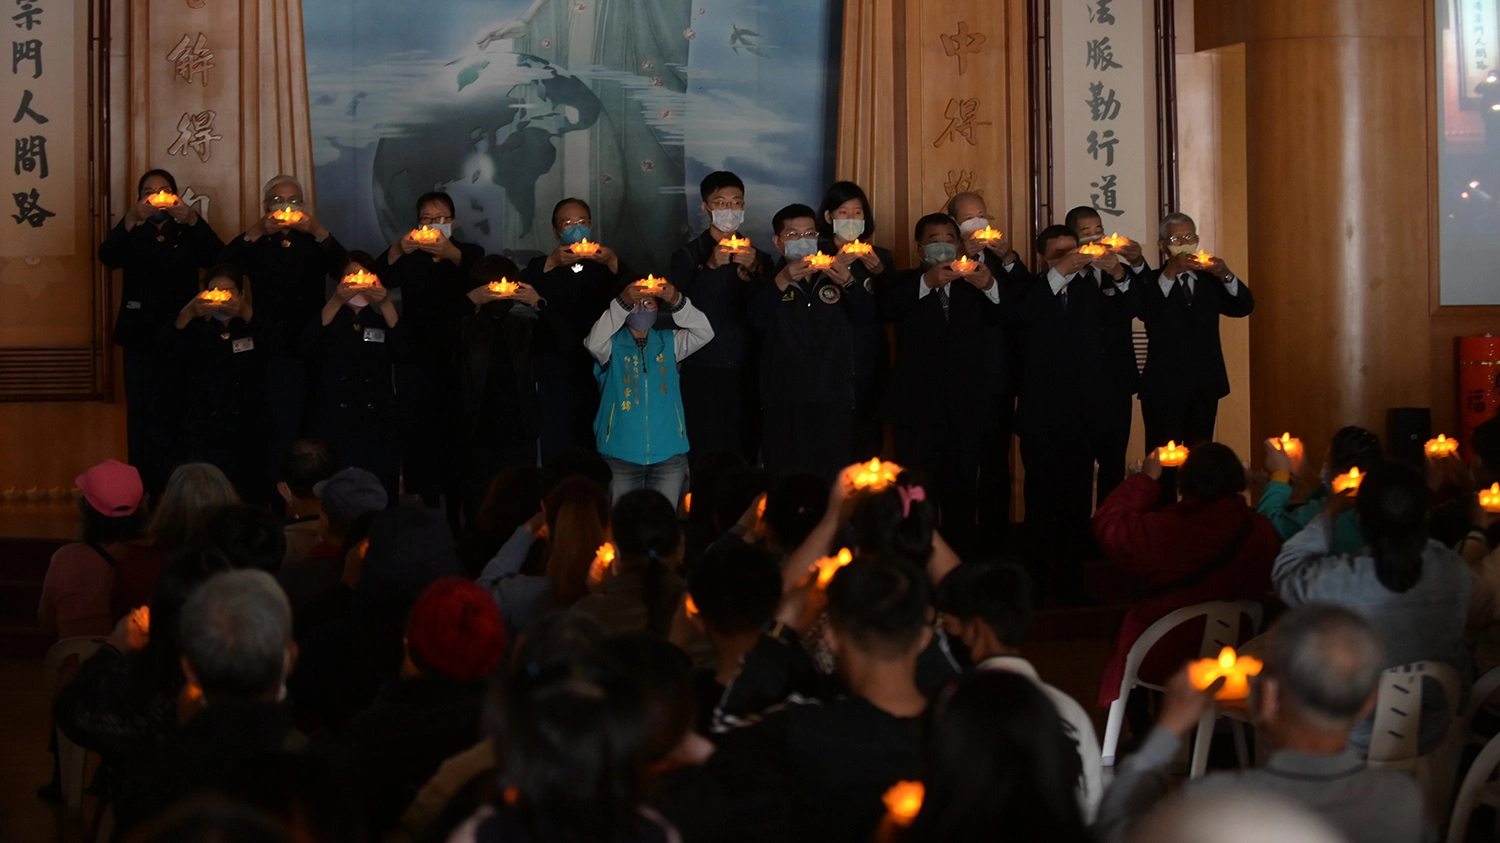
<path fill-rule="evenodd" d="M 654 465 L 687 453 L 676 366 L 708 345 L 714 328 L 686 296 L 668 312 L 676 328 L 651 328 L 642 348 L 626 327 L 630 306 L 615 298 L 584 340 L 597 362 L 594 442 L 603 456 Z"/>

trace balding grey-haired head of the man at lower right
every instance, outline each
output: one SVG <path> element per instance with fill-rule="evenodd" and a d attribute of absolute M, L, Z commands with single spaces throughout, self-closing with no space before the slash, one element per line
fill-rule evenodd
<path fill-rule="evenodd" d="M 1352 723 L 1380 687 L 1384 648 L 1370 621 L 1342 606 L 1304 606 L 1276 621 L 1266 672 L 1306 714 Z"/>

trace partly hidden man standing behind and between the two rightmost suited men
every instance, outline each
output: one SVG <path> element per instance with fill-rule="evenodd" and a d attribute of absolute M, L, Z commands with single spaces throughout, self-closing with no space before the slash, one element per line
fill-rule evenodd
<path fill-rule="evenodd" d="M 1078 206 L 1068 212 L 1066 226 L 1078 237 L 1078 243 L 1098 243 L 1104 238 L 1104 220 L 1100 212 L 1089 206 Z M 1113 250 L 1119 258 L 1119 266 L 1125 270 L 1130 302 L 1126 314 L 1116 314 L 1116 318 L 1106 320 L 1100 330 L 1104 336 L 1104 393 L 1100 396 L 1100 432 L 1095 442 L 1095 460 L 1098 460 L 1098 476 L 1095 477 L 1095 506 L 1102 504 L 1120 482 L 1125 480 L 1125 450 L 1130 447 L 1130 426 L 1134 416 L 1136 388 L 1140 386 L 1140 370 L 1136 368 L 1136 316 L 1138 315 L 1140 282 L 1143 273 L 1150 272 L 1142 256 L 1140 243 L 1126 240 L 1124 246 Z"/>

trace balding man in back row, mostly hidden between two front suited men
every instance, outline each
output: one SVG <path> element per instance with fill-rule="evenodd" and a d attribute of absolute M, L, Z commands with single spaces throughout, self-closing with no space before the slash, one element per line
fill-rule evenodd
<path fill-rule="evenodd" d="M 963 250 L 975 260 L 982 260 L 990 268 L 990 274 L 1000 285 L 1000 298 L 1008 300 L 1020 288 L 1030 284 L 1030 270 L 1022 262 L 1022 256 L 1011 248 L 1005 232 L 994 240 L 978 240 L 975 234 L 992 228 L 994 218 L 980 194 L 956 194 L 948 200 L 948 216 L 958 224 L 963 234 Z M 1005 542 L 1005 532 L 1011 520 L 1011 436 L 1016 429 L 1016 390 L 1022 382 L 1022 350 L 1020 332 L 1005 318 L 1002 310 L 1000 339 L 990 344 L 1002 358 L 990 362 L 998 372 L 1004 372 L 1005 387 L 1000 392 L 996 420 L 996 435 L 987 436 L 980 447 L 980 540 L 987 548 L 999 546 Z"/>

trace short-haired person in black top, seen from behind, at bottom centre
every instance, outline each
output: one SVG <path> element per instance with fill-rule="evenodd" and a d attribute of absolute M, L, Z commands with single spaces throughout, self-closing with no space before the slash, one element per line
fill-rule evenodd
<path fill-rule="evenodd" d="M 741 686 L 776 684 L 801 656 L 796 632 L 820 602 L 813 584 L 794 592 L 782 624 L 746 656 L 724 693 L 718 752 L 766 764 L 792 802 L 790 840 L 870 840 L 884 814 L 880 796 L 897 782 L 916 778 L 927 696 L 916 687 L 916 658 L 932 639 L 930 586 L 903 560 L 856 558 L 838 568 L 826 590 L 828 644 L 843 693 L 792 698 L 771 708 L 741 706 Z M 792 621 L 788 624 L 786 621 Z M 795 630 L 795 632 L 794 632 Z"/>

